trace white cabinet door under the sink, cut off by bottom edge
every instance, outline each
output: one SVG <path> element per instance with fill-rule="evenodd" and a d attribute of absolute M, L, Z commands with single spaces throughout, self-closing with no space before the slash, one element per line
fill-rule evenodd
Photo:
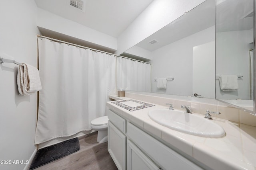
<path fill-rule="evenodd" d="M 159 167 L 152 162 L 136 145 L 130 140 L 127 141 L 127 170 L 159 170 Z"/>

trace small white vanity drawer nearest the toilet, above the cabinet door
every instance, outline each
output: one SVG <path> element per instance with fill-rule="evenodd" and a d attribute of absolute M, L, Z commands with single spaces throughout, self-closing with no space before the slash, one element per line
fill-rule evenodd
<path fill-rule="evenodd" d="M 126 133 L 126 120 L 112 110 L 108 110 L 108 119 L 111 121 L 120 131 Z"/>

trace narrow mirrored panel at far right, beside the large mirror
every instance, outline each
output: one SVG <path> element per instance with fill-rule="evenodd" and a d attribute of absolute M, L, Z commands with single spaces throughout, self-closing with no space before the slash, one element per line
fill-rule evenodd
<path fill-rule="evenodd" d="M 253 111 L 254 0 L 216 1 L 216 99 Z"/>

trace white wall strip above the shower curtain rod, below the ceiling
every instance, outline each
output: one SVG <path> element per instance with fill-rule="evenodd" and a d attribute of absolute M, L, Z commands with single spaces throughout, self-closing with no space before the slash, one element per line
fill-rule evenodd
<path fill-rule="evenodd" d="M 117 39 L 38 8 L 37 26 L 116 51 Z"/>

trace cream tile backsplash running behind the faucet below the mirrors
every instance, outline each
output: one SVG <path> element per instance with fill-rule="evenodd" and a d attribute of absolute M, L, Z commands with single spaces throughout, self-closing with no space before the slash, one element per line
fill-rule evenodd
<path fill-rule="evenodd" d="M 146 94 L 137 94 L 132 92 L 126 92 L 125 97 L 132 98 L 135 100 L 142 100 L 144 102 L 151 102 L 159 105 L 166 105 L 166 103 L 172 103 L 174 109 L 182 109 L 181 105 L 190 105 L 191 110 L 194 113 L 199 114 L 205 114 L 206 110 L 210 111 L 219 111 L 220 115 L 212 114 L 212 117 L 218 117 L 220 119 L 226 119 L 229 121 L 242 123 L 250 126 L 256 127 L 256 116 L 237 109 L 235 107 L 227 106 L 226 104 L 223 104 L 221 102 L 213 102 L 210 104 L 204 102 L 192 102 L 192 101 L 186 101 L 186 100 L 180 100 L 180 99 L 174 99 L 174 98 L 165 98 L 160 96 L 150 96 Z M 169 106 L 166 106 L 168 108 Z"/>

